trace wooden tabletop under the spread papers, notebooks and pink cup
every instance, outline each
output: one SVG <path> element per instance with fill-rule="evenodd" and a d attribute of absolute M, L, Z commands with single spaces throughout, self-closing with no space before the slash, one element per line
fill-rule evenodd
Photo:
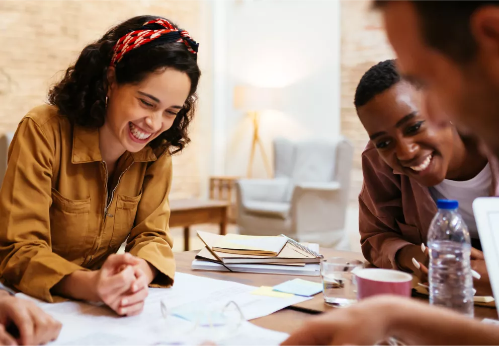
<path fill-rule="evenodd" d="M 320 249 L 324 257 L 344 257 L 351 259 L 359 259 L 364 261 L 362 254 L 356 252 L 336 251 L 330 249 Z M 272 275 L 272 274 L 258 274 L 258 273 L 241 273 L 241 272 L 228 272 L 228 271 L 207 271 L 207 270 L 193 270 L 191 263 L 196 256 L 197 251 L 180 252 L 175 254 L 177 261 L 177 271 L 194 274 L 198 276 L 205 276 L 206 278 L 233 281 L 240 284 L 252 286 L 275 286 L 285 281 L 296 278 L 295 275 Z M 300 276 L 302 279 L 320 282 L 320 276 Z M 428 302 L 427 298 L 414 297 L 414 299 Z M 315 295 L 311 300 L 295 304 L 287 309 L 283 309 L 271 315 L 257 318 L 252 320 L 254 324 L 277 330 L 286 333 L 291 333 L 299 328 L 304 321 L 310 318 L 311 314 L 318 314 L 320 312 L 335 309 L 324 303 L 321 294 Z M 491 318 L 497 319 L 497 311 L 495 308 L 486 308 L 475 306 L 476 318 Z"/>

